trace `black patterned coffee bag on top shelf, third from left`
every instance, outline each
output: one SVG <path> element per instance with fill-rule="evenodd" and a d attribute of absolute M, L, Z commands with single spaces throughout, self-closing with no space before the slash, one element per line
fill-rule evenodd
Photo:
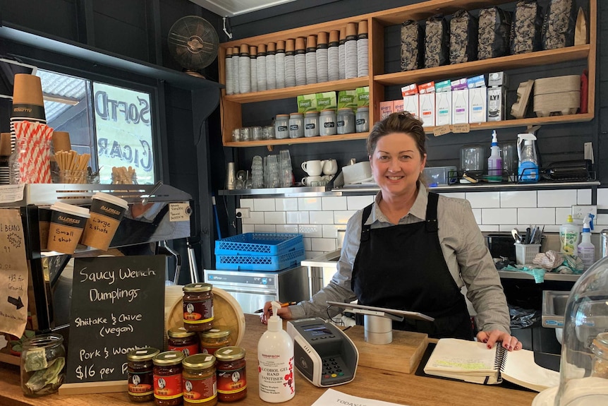
<path fill-rule="evenodd" d="M 450 20 L 450 64 L 477 60 L 478 22 L 466 10 L 458 10 Z"/>

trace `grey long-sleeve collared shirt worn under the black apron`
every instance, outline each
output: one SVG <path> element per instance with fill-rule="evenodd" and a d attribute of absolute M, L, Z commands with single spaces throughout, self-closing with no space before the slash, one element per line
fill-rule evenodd
<path fill-rule="evenodd" d="M 379 209 L 380 193 L 375 198 L 374 208 L 366 224 L 372 228 L 393 226 Z M 422 184 L 418 186 L 418 197 L 410 213 L 399 220 L 399 224 L 411 224 L 425 220 L 428 193 Z M 353 263 L 359 250 L 363 210 L 358 210 L 346 225 L 346 235 L 337 264 L 337 272 L 329 284 L 315 294 L 310 301 L 289 306 L 293 318 L 327 318 L 326 301 L 349 302 L 357 299 L 351 290 Z M 460 198 L 439 196 L 437 204 L 439 244 L 448 269 L 458 287 L 466 286 L 467 298 L 477 315 L 475 321 L 482 331 L 501 330 L 510 333 L 509 308 L 502 289 L 500 277 L 494 266 L 490 251 L 475 222 L 470 203 Z M 399 253 L 395 253 L 399 255 Z M 424 272 L 423 269 L 420 272 Z M 342 309 L 333 308 L 329 316 Z"/>

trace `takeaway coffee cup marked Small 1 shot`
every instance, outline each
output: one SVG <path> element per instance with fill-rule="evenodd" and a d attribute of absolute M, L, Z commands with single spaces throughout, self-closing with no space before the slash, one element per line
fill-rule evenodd
<path fill-rule="evenodd" d="M 89 217 L 87 208 L 61 202 L 51 205 L 47 250 L 73 254 Z"/>

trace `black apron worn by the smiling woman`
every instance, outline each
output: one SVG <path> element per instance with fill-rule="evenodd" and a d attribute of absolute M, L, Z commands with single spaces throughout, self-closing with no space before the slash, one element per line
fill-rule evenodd
<path fill-rule="evenodd" d="M 393 321 L 396 330 L 432 338 L 473 340 L 473 328 L 456 281 L 446 264 L 437 234 L 437 193 L 429 193 L 426 221 L 372 229 L 363 209 L 361 244 L 351 287 L 360 304 L 418 311 L 434 321 Z"/>

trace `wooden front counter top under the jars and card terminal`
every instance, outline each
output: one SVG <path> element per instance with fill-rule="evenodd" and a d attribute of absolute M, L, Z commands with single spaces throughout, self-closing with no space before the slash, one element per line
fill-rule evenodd
<path fill-rule="evenodd" d="M 241 346 L 247 355 L 248 396 L 236 405 L 268 405 L 257 395 L 257 340 L 266 330 L 258 316 L 245 315 L 246 334 Z M 382 357 L 382 347 L 378 356 Z M 391 362 L 387 359 L 387 362 Z M 426 378 L 414 374 L 400 374 L 380 369 L 359 366 L 355 380 L 346 385 L 334 386 L 349 395 L 361 398 L 373 398 L 409 406 L 462 405 L 473 402 L 480 405 L 530 405 L 536 393 L 524 390 L 513 390 L 499 386 L 482 386 L 475 383 L 447 381 L 438 378 Z M 308 383 L 299 373 L 296 375 L 296 396 L 286 402 L 289 406 L 310 406 L 324 393 L 324 388 L 317 388 Z M 19 369 L 17 366 L 0 364 L 0 405 L 2 406 L 116 406 L 137 405 L 130 402 L 126 393 L 104 393 L 95 395 L 59 396 L 57 394 L 42 398 L 25 398 L 19 386 Z M 154 402 L 141 405 L 154 405 Z"/>

